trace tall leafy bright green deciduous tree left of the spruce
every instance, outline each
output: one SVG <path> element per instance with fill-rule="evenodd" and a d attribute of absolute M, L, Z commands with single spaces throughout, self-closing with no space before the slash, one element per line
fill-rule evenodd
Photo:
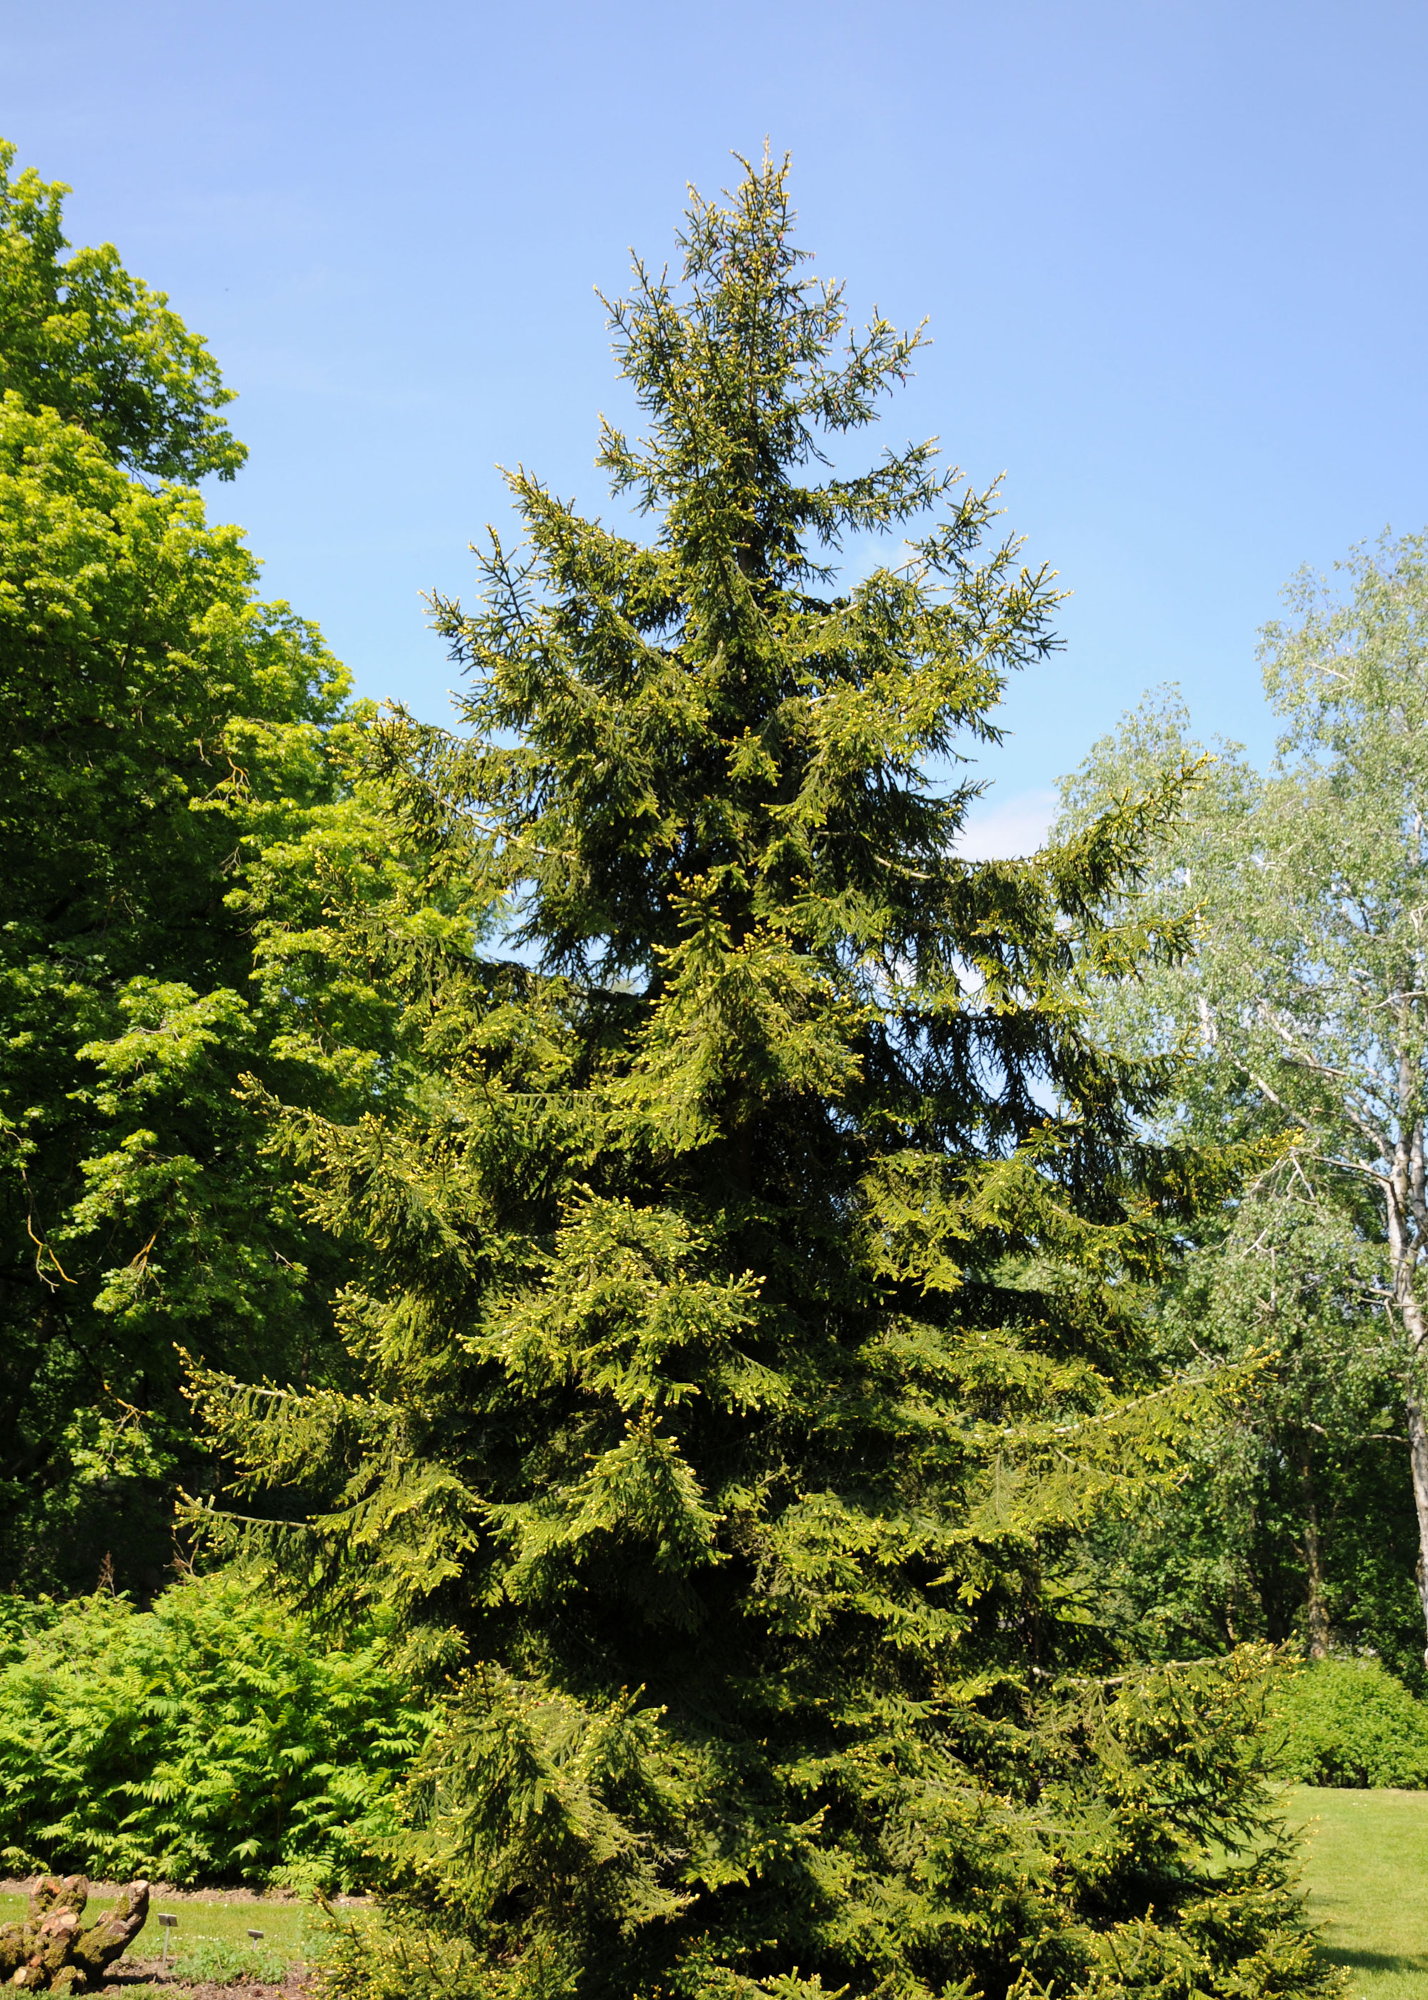
<path fill-rule="evenodd" d="M 64 190 L 10 160 L 0 1578 L 92 1588 L 112 1558 L 154 1588 L 204 1476 L 176 1342 L 284 1380 L 332 1354 L 332 1248 L 236 1086 L 360 1100 L 382 1002 L 302 940 L 324 866 L 388 898 L 402 858 L 344 670 L 262 602 L 240 530 L 154 478 L 242 460 L 204 344 L 112 250 L 60 262 Z"/>

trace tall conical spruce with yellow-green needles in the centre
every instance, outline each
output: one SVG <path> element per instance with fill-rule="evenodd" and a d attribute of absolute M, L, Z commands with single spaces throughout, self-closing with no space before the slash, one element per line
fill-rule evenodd
<path fill-rule="evenodd" d="M 518 952 L 334 898 L 400 1060 L 278 1134 L 354 1246 L 362 1390 L 200 1378 L 252 1496 L 212 1532 L 452 1668 L 388 1930 L 334 1978 L 1314 1992 L 1262 1662 L 1124 1670 L 1078 1572 L 1220 1396 L 1142 1366 L 1208 1168 L 1140 1144 L 1164 1064 L 1080 990 L 1176 948 L 1096 916 L 1170 808 L 958 860 L 946 772 L 1054 592 L 930 444 L 816 480 L 918 336 L 840 346 L 790 228 L 766 162 L 694 200 L 680 286 L 636 266 L 648 438 L 600 464 L 654 538 L 514 474 L 524 548 L 436 606 L 470 734 L 384 732 L 406 838 Z"/>

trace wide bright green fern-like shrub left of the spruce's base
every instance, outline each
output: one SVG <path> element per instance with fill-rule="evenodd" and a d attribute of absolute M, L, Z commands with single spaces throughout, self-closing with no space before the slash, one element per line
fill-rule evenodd
<path fill-rule="evenodd" d="M 28 1628 L 26 1628 L 28 1626 Z M 150 1612 L 98 1592 L 12 1616 L 0 1850 L 18 1870 L 360 1888 L 426 1714 L 382 1662 L 240 1576 Z"/>

